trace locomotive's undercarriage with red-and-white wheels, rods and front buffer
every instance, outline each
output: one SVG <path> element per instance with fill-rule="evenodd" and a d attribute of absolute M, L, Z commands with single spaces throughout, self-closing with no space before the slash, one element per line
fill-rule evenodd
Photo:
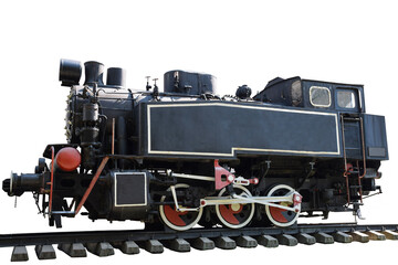
<path fill-rule="evenodd" d="M 241 158 L 220 163 L 218 160 L 203 160 L 196 166 L 191 161 L 170 163 L 148 160 L 142 161 L 140 166 L 137 163 L 135 169 L 112 169 L 116 163 L 113 161 L 105 167 L 84 202 L 87 212 L 82 214 L 88 215 L 93 221 L 137 220 L 145 222 L 148 229 L 168 227 L 179 231 L 191 229 L 196 224 L 231 229 L 248 225 L 289 226 L 295 224 L 298 216 L 327 219 L 329 212 L 345 211 L 359 214 L 363 195 L 379 189 L 375 186 L 374 177 L 377 176 L 364 178 L 360 189 L 356 186 L 347 189 L 346 178 L 353 179 L 354 176 L 349 173 L 344 177 L 343 166 L 339 167 L 341 170 L 332 170 L 338 168 L 334 163 L 342 165 L 341 160 L 324 162 L 269 157 L 263 160 Z M 369 162 L 368 166 L 376 167 L 369 168 L 368 173 L 377 172 L 378 163 Z M 350 170 L 354 174 L 354 168 Z M 220 171 L 219 174 L 217 171 Z M 359 168 L 359 171 L 363 172 L 363 169 Z M 126 190 L 117 193 L 121 187 L 115 182 L 124 181 L 123 174 L 144 176 L 138 179 L 143 182 L 143 187 L 138 184 L 139 188 L 136 188 L 137 181 L 122 182 L 122 186 L 126 186 L 123 189 L 127 191 L 145 190 L 140 198 L 117 198 L 118 193 L 128 193 Z M 33 191 L 40 211 L 50 216 L 50 225 L 61 227 L 61 216 L 75 216 L 78 212 L 77 205 L 83 201 L 93 178 L 94 172 L 56 172 L 51 211 L 51 170 L 43 160 L 40 160 L 35 174 L 13 174 L 11 183 L 3 182 L 3 190 L 15 195 Z M 19 189 L 12 190 L 12 182 L 19 183 Z M 27 189 L 27 184 L 31 186 L 30 189 Z M 128 184 L 132 187 L 127 187 Z M 41 204 L 39 194 L 43 195 Z M 136 201 L 144 197 L 145 203 Z M 117 200 L 126 202 L 117 205 Z"/>

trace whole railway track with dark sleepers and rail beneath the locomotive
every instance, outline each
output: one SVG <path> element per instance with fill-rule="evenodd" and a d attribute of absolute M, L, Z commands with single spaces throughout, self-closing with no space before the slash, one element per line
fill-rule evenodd
<path fill-rule="evenodd" d="M 163 253 L 164 248 L 176 252 L 212 250 L 214 247 L 232 250 L 240 247 L 277 247 L 315 243 L 333 244 L 334 242 L 367 243 L 371 240 L 398 240 L 398 224 L 300 224 L 294 227 L 248 227 L 230 229 L 192 229 L 185 232 L 175 231 L 82 231 L 56 233 L 1 234 L 0 247 L 13 247 L 11 261 L 28 261 L 27 246 L 35 246 L 39 259 L 56 258 L 53 245 L 71 257 L 85 257 L 87 251 L 97 256 L 114 255 L 114 248 L 125 254 L 138 254 L 140 250 L 149 253 Z"/>

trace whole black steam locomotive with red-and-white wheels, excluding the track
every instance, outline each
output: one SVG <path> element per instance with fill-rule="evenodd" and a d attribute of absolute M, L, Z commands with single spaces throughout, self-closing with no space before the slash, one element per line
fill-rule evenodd
<path fill-rule="evenodd" d="M 12 173 L 9 195 L 31 191 L 50 225 L 82 208 L 90 219 L 146 229 L 290 226 L 350 211 L 380 192 L 385 118 L 365 113 L 364 87 L 275 78 L 251 97 L 218 96 L 216 77 L 170 71 L 164 92 L 125 87 L 125 71 L 61 60 L 70 86 L 67 144 L 49 145 L 34 173 Z M 41 197 L 40 197 L 41 195 Z M 41 200 L 40 200 L 41 199 Z M 83 214 L 83 213 L 82 213 Z"/>

